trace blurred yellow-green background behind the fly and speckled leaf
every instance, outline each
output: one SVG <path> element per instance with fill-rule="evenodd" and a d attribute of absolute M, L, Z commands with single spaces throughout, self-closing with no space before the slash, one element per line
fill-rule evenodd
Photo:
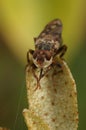
<path fill-rule="evenodd" d="M 79 128 L 86 129 L 85 0 L 0 1 L 0 126 L 27 130 L 22 116 L 27 107 L 25 65 L 33 38 L 54 18 L 63 22 L 65 59 L 76 80 Z"/>

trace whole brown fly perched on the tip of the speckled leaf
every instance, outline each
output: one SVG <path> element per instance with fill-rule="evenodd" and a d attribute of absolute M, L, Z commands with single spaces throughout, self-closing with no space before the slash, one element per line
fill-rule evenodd
<path fill-rule="evenodd" d="M 33 67 L 32 71 L 37 79 L 37 88 L 41 88 L 40 80 L 50 70 L 54 58 L 58 55 L 63 57 L 67 50 L 66 45 L 62 45 L 62 22 L 60 19 L 54 19 L 48 23 L 44 30 L 39 34 L 37 38 L 34 38 L 35 50 L 29 50 L 27 52 L 27 61 L 29 63 L 29 54 L 32 55 Z M 34 73 L 34 68 L 40 68 L 39 77 Z M 43 70 L 46 68 L 46 71 Z"/>

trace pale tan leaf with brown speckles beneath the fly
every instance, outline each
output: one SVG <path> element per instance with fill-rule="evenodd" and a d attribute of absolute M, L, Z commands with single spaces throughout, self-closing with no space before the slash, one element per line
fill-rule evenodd
<path fill-rule="evenodd" d="M 23 114 L 31 130 L 77 130 L 76 84 L 67 64 L 62 60 L 59 62 L 62 71 L 58 66 L 51 68 L 47 76 L 40 80 L 41 89 L 36 91 L 36 79 L 31 66 L 26 70 L 29 108 Z M 39 69 L 35 73 L 38 75 Z"/>

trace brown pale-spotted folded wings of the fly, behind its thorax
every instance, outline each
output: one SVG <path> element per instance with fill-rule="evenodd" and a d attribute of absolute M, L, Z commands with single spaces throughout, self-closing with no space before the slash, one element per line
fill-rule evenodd
<path fill-rule="evenodd" d="M 48 23 L 44 30 L 39 34 L 37 38 L 35 38 L 35 41 L 38 39 L 49 39 L 58 41 L 59 43 L 62 43 L 62 22 L 59 19 L 54 19 L 50 23 Z"/>

